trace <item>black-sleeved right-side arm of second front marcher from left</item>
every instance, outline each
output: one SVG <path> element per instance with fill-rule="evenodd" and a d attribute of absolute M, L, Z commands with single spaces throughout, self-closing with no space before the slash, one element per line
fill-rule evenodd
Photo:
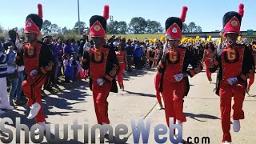
<path fill-rule="evenodd" d="M 112 81 L 114 77 L 118 74 L 119 64 L 118 58 L 115 54 L 114 48 L 110 48 L 110 52 L 107 57 L 106 62 L 106 75 L 104 76 L 105 81 Z"/>

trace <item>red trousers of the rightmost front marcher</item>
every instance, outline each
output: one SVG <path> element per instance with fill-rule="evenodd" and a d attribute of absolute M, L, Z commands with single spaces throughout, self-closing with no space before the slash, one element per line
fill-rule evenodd
<path fill-rule="evenodd" d="M 231 142 L 230 135 L 230 113 L 231 113 L 231 100 L 234 96 L 234 105 L 232 106 L 234 113 L 233 119 L 239 120 L 245 118 L 242 110 L 242 103 L 245 98 L 245 82 L 236 82 L 230 86 L 227 82 L 220 82 L 220 108 L 222 117 L 222 142 Z"/>

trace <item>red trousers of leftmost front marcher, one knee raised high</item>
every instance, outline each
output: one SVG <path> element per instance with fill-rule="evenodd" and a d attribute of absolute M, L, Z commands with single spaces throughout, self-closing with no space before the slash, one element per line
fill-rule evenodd
<path fill-rule="evenodd" d="M 35 117 L 35 122 L 45 122 L 45 115 L 43 114 L 43 107 L 42 107 L 42 85 L 45 84 L 46 77 L 45 75 L 37 75 L 36 77 L 32 78 L 29 74 L 27 79 L 22 82 L 22 89 L 26 98 L 28 98 L 28 102 L 26 106 L 31 106 L 32 104 L 38 102 L 41 106 L 41 109 L 38 112 L 38 115 Z"/>

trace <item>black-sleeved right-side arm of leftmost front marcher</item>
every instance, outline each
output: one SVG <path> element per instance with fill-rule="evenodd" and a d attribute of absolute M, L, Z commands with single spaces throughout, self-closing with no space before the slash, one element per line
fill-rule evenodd
<path fill-rule="evenodd" d="M 54 67 L 54 53 L 50 50 L 50 47 L 45 43 L 41 43 L 41 52 L 39 56 L 39 68 L 38 72 L 41 74 L 47 74 Z"/>

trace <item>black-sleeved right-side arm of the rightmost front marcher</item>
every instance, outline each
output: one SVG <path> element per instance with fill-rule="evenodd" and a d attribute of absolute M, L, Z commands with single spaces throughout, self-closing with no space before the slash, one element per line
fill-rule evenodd
<path fill-rule="evenodd" d="M 238 82 L 246 81 L 247 78 L 253 76 L 255 72 L 254 57 L 250 52 L 249 47 L 245 47 L 244 57 L 242 62 L 242 74 L 238 78 Z"/>

